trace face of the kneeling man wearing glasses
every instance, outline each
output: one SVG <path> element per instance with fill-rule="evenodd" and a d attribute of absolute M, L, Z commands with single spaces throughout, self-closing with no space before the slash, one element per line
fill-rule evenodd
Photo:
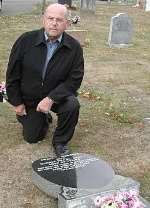
<path fill-rule="evenodd" d="M 43 15 L 43 26 L 50 39 L 57 39 L 69 26 L 65 10 L 49 7 Z"/>

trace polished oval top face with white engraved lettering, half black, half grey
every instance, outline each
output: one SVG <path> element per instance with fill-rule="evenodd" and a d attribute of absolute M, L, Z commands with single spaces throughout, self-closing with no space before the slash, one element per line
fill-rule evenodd
<path fill-rule="evenodd" d="M 32 167 L 36 175 L 47 182 L 77 189 L 100 189 L 114 177 L 107 162 L 82 153 L 39 159 Z"/>

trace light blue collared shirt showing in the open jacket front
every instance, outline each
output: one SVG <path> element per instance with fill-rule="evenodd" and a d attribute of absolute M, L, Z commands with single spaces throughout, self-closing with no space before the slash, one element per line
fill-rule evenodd
<path fill-rule="evenodd" d="M 46 32 L 44 32 L 44 35 L 45 35 L 46 46 L 47 46 L 47 55 L 46 55 L 46 61 L 45 61 L 43 72 L 42 72 L 43 80 L 44 80 L 44 77 L 45 77 L 45 74 L 46 74 L 46 69 L 47 69 L 48 62 L 52 58 L 52 56 L 54 54 L 54 51 L 57 49 L 59 43 L 62 40 L 62 35 L 55 41 L 49 41 Z"/>

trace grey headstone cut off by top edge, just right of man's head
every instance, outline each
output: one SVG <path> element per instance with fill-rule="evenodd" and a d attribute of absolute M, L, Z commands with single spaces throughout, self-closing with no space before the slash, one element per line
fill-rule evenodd
<path fill-rule="evenodd" d="M 81 0 L 80 8 L 86 11 L 95 11 L 96 0 Z"/>

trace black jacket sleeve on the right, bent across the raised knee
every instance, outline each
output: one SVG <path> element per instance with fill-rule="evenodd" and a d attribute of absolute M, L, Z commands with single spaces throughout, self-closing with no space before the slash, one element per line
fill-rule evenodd
<path fill-rule="evenodd" d="M 80 45 L 75 53 L 74 61 L 67 79 L 52 90 L 48 97 L 59 103 L 71 95 L 76 95 L 84 75 L 83 50 Z"/>

